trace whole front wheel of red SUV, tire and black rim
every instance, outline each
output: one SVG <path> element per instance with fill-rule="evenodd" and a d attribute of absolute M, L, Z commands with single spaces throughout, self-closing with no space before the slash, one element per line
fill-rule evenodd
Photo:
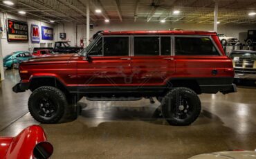
<path fill-rule="evenodd" d="M 68 102 L 65 94 L 53 86 L 42 86 L 30 95 L 28 110 L 35 120 L 41 123 L 57 123 L 62 116 Z"/>

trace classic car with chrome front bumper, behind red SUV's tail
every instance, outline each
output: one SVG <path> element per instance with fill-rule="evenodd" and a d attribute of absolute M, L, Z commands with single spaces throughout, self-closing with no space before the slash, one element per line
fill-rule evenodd
<path fill-rule="evenodd" d="M 256 51 L 233 50 L 229 57 L 233 60 L 235 80 L 250 79 L 256 81 Z"/>

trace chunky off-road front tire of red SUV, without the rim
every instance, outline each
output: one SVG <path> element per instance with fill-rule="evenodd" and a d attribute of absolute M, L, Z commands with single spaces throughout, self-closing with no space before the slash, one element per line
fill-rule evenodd
<path fill-rule="evenodd" d="M 57 106 L 56 113 L 50 118 L 44 118 L 38 113 L 39 99 L 42 97 L 48 97 L 54 101 L 54 105 Z M 35 120 L 45 124 L 57 123 L 65 113 L 68 106 L 65 94 L 60 89 L 53 86 L 41 86 L 30 95 L 28 99 L 28 110 Z"/>

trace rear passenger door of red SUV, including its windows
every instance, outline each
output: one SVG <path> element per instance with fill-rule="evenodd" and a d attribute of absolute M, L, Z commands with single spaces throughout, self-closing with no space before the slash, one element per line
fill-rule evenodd
<path fill-rule="evenodd" d="M 175 71 L 172 37 L 134 36 L 132 83 L 137 86 L 163 86 Z"/>

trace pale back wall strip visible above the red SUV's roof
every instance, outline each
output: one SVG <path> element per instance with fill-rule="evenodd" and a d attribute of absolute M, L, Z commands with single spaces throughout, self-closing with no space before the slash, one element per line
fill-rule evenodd
<path fill-rule="evenodd" d="M 66 40 L 71 42 L 71 45 L 80 45 L 80 39 L 86 39 L 86 25 L 85 24 L 71 24 L 65 23 Z M 77 34 L 75 27 L 77 28 Z M 63 32 L 63 25 L 57 24 L 55 26 L 57 31 L 55 39 L 60 40 L 60 32 Z M 93 29 L 90 31 L 90 37 L 98 30 L 169 30 L 170 28 L 182 28 L 183 30 L 213 30 L 213 24 L 171 24 L 165 22 L 165 24 L 154 22 L 134 22 L 134 21 L 110 21 L 105 23 L 104 21 L 98 21 L 93 24 Z M 230 37 L 237 37 L 243 44 L 244 39 L 247 37 L 247 30 L 256 29 L 255 25 L 238 25 L 238 24 L 219 24 L 218 33 L 223 33 Z M 77 38 L 75 38 L 77 35 Z M 86 40 L 84 40 L 85 43 Z"/>

